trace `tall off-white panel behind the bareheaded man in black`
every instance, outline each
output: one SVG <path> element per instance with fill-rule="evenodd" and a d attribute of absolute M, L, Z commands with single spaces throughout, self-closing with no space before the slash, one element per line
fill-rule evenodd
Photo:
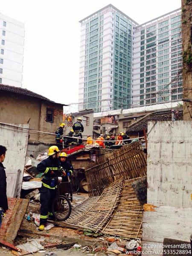
<path fill-rule="evenodd" d="M 3 165 L 6 167 L 7 196 L 20 198 L 29 124 L 10 125 L 0 122 L 0 145 L 7 148 Z"/>

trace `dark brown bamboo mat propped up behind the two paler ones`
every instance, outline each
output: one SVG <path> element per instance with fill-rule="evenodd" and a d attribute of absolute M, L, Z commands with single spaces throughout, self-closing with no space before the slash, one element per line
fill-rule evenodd
<path fill-rule="evenodd" d="M 107 161 L 86 170 L 89 196 L 101 195 L 103 189 L 121 177 L 127 180 L 145 176 L 146 166 L 146 156 L 139 142 L 123 146 L 110 154 Z"/>

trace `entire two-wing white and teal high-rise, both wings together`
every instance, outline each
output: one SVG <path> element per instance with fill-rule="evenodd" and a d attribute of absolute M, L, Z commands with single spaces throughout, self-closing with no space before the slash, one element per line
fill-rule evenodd
<path fill-rule="evenodd" d="M 110 4 L 81 20 L 79 110 L 181 99 L 180 12 L 139 25 Z"/>

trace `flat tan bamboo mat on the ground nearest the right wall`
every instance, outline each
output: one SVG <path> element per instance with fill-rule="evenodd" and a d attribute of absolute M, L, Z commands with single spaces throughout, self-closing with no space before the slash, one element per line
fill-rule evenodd
<path fill-rule="evenodd" d="M 137 180 L 125 180 L 122 195 L 111 220 L 101 231 L 104 234 L 136 239 L 142 236 L 143 207 L 137 199 L 131 184 Z"/>

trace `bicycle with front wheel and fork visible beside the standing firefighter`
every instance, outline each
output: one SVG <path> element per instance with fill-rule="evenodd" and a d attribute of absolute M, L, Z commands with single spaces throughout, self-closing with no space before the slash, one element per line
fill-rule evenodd
<path fill-rule="evenodd" d="M 67 220 L 72 210 L 70 199 L 67 198 L 65 195 L 66 192 L 64 192 L 63 189 L 65 189 L 64 184 L 62 184 L 62 182 L 58 183 L 57 194 L 52 201 L 52 214 L 58 221 Z"/>

